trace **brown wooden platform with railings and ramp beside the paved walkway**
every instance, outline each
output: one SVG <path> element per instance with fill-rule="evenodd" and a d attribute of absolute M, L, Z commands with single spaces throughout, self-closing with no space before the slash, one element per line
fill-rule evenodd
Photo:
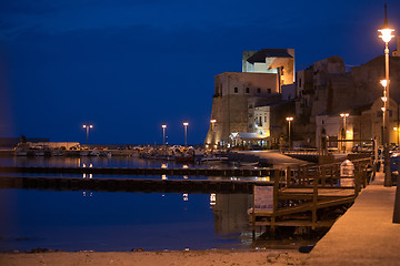
<path fill-rule="evenodd" d="M 340 176 L 339 164 L 304 166 L 296 171 L 287 168 L 286 176 L 276 172 L 270 205 L 257 203 L 254 188 L 253 207 L 249 211 L 250 224 L 253 229 L 268 226 L 271 232 L 277 226 L 331 226 L 337 219 L 331 215 L 332 211 L 346 209 L 343 207 L 354 202 L 361 187 L 367 186 L 368 163 L 369 160 L 357 161 L 353 177 Z M 343 180 L 350 180 L 350 185 L 338 184 Z"/>

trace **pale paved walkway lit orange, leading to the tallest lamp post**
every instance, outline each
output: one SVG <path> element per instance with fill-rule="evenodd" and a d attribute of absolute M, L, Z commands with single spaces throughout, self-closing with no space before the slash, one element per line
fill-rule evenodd
<path fill-rule="evenodd" d="M 392 223 L 396 186 L 383 173 L 316 245 L 307 265 L 400 265 L 400 224 Z"/>

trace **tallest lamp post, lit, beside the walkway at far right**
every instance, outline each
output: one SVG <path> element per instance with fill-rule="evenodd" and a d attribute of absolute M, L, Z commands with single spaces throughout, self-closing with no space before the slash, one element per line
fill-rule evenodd
<path fill-rule="evenodd" d="M 384 111 L 383 111 L 383 121 L 386 121 L 386 124 L 383 125 L 383 156 L 384 156 L 384 186 L 391 186 L 391 173 L 390 173 L 390 158 L 389 158 L 389 131 L 388 131 L 388 126 L 387 124 L 389 124 L 389 115 L 388 115 L 388 111 L 389 109 L 389 101 L 388 99 L 390 99 L 389 96 L 389 84 L 390 84 L 390 80 L 389 80 L 389 45 L 388 43 L 390 42 L 390 40 L 394 37 L 392 35 L 392 31 L 394 31 L 393 29 L 391 29 L 389 27 L 388 23 L 388 16 L 387 16 L 387 6 L 384 4 L 384 22 L 383 22 L 383 28 L 378 30 L 381 35 L 379 35 L 379 38 L 381 38 L 384 42 L 384 73 L 386 73 L 386 86 L 384 86 L 384 92 L 383 92 L 383 96 L 386 98 L 384 101 Z"/>

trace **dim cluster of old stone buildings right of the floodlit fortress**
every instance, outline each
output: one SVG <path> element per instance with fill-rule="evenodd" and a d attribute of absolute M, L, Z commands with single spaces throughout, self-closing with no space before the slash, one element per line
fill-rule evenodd
<path fill-rule="evenodd" d="M 394 55 L 394 54 L 393 54 Z M 400 103 L 400 58 L 390 58 L 390 143 L 398 143 Z M 356 143 L 341 145 L 334 140 L 382 139 L 384 57 L 379 55 L 360 66 L 348 70 L 343 59 L 331 57 L 313 63 L 310 68 L 297 72 L 296 115 L 297 134 L 302 144 L 310 144 L 314 134 L 314 146 L 321 146 L 321 136 L 327 135 L 330 145 L 339 150 L 349 150 Z M 340 113 L 350 114 L 347 130 L 343 132 Z M 311 137 L 313 139 L 313 137 Z M 313 143 L 312 143 L 313 144 Z"/>

